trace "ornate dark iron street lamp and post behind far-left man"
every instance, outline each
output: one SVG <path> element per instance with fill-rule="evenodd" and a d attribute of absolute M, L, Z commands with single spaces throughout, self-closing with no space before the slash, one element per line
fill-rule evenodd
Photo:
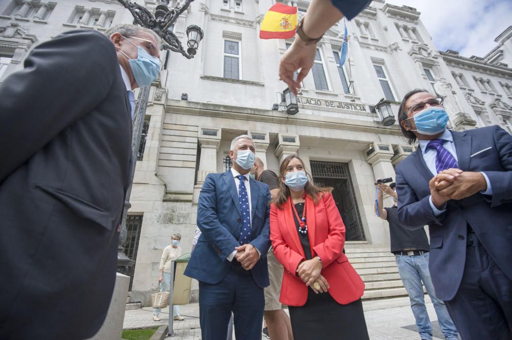
<path fill-rule="evenodd" d="M 169 30 L 169 28 L 174 24 L 174 22 L 178 19 L 181 13 L 183 13 L 190 3 L 194 0 L 185 0 L 185 3 L 181 8 L 176 7 L 169 9 L 167 6 L 169 5 L 169 0 L 161 0 L 161 4 L 158 5 L 155 9 L 155 15 L 152 14 L 145 7 L 131 3 L 127 0 L 117 0 L 121 5 L 123 5 L 127 10 L 132 13 L 134 20 L 133 23 L 135 25 L 140 25 L 142 27 L 148 28 L 155 32 L 160 38 L 162 38 L 162 44 L 160 45 L 160 50 L 171 50 L 173 52 L 179 52 L 187 59 L 194 58 L 196 55 L 197 49 L 199 47 L 199 42 L 204 37 L 203 30 L 199 26 L 190 25 L 187 28 L 187 46 L 188 49 L 185 52 L 183 46 L 178 39 L 178 37 L 174 34 L 173 31 Z M 135 162 L 137 160 L 137 152 L 139 150 L 140 139 L 142 134 L 142 126 L 144 123 L 144 116 L 146 114 L 146 106 L 147 101 L 150 96 L 150 86 L 141 87 L 139 91 L 139 96 L 137 97 L 137 104 L 135 105 L 135 112 L 132 118 L 132 160 L 134 165 L 131 169 L 131 180 L 130 187 L 127 190 L 125 201 L 124 201 L 124 209 L 122 215 L 122 227 L 121 233 L 119 235 L 119 246 L 118 246 L 118 256 L 117 256 L 117 271 L 121 274 L 129 274 L 129 268 L 135 264 L 135 261 L 130 259 L 124 254 L 124 245 L 126 243 L 127 238 L 127 229 L 126 229 L 126 218 L 128 214 L 128 209 L 130 209 L 130 194 L 132 191 L 132 183 L 133 176 L 135 174 Z"/>

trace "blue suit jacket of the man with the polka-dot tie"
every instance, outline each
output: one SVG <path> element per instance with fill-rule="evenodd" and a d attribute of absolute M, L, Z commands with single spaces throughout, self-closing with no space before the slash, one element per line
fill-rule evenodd
<path fill-rule="evenodd" d="M 251 274 L 263 288 L 269 285 L 266 255 L 270 248 L 270 190 L 254 179 L 249 180 L 249 185 L 252 215 L 249 243 L 262 255 Z M 226 276 L 231 265 L 227 257 L 240 245 L 241 218 L 238 190 L 231 171 L 208 174 L 197 210 L 197 225 L 202 234 L 188 262 L 186 276 L 210 284 L 219 283 Z"/>

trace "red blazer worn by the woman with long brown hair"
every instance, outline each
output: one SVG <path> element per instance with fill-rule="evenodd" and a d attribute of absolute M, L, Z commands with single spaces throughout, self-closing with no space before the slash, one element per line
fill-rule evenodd
<path fill-rule="evenodd" d="M 316 206 L 309 196 L 306 200 L 311 255 L 318 255 L 322 259 L 321 274 L 329 283 L 328 292 L 339 304 L 346 305 L 358 300 L 365 290 L 365 284 L 343 254 L 345 224 L 332 195 L 325 193 Z M 290 199 L 284 204 L 283 210 L 273 203 L 270 207 L 270 240 L 275 257 L 285 268 L 279 300 L 289 306 L 303 306 L 308 298 L 308 287 L 295 273 L 298 264 L 306 258 Z"/>

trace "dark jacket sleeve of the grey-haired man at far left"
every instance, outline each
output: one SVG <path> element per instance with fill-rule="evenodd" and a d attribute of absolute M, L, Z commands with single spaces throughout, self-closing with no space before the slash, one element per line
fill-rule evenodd
<path fill-rule="evenodd" d="M 119 73 L 114 44 L 92 30 L 41 43 L 25 69 L 0 84 L 0 182 L 55 135 L 88 114 Z"/>

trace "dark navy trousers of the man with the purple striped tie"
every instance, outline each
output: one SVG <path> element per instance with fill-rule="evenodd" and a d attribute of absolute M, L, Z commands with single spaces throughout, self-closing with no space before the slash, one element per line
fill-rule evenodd
<path fill-rule="evenodd" d="M 459 290 L 444 303 L 463 340 L 512 339 L 512 280 L 490 257 L 475 233 L 467 234 Z"/>

